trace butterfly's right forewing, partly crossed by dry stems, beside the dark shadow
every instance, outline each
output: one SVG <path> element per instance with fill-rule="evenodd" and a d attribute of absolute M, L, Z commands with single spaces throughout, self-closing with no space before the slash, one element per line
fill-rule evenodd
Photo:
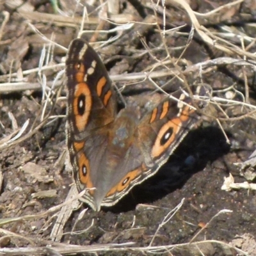
<path fill-rule="evenodd" d="M 205 86 L 191 86 L 196 95 L 205 95 Z M 193 100 L 186 90 L 178 90 L 158 104 L 141 120 L 138 126 L 141 151 L 144 152 L 148 168 L 158 170 L 166 163 L 190 129 L 198 122 L 200 115 L 195 106 L 205 107 L 202 100 Z M 147 140 L 147 134 L 155 134 Z M 147 150 L 148 149 L 148 150 Z M 156 172 L 156 171 L 155 171 Z"/>

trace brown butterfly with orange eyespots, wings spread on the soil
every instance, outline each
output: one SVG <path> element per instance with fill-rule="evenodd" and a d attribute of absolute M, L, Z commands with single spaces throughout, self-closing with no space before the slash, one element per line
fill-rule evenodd
<path fill-rule="evenodd" d="M 99 211 L 154 175 L 199 115 L 186 90 L 173 94 L 177 100 L 166 97 L 145 115 L 139 115 L 138 106 L 117 113 L 108 72 L 82 39 L 70 44 L 66 72 L 67 146 L 74 179 L 78 191 L 88 189 L 82 200 Z M 205 95 L 204 86 L 191 90 Z"/>

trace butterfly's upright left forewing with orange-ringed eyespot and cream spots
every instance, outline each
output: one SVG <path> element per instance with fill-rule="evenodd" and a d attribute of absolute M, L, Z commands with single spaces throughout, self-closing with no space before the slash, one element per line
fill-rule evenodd
<path fill-rule="evenodd" d="M 68 120 L 75 132 L 88 133 L 113 122 L 115 92 L 99 55 L 84 40 L 70 44 L 66 60 Z"/>

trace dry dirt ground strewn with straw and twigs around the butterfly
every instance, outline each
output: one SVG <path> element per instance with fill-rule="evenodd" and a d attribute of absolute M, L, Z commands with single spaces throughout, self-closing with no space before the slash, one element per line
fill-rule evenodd
<path fill-rule="evenodd" d="M 0 1 L 1 255 L 256 255 L 255 172 L 242 168 L 256 141 L 256 2 L 105 2 Z M 61 71 L 83 13 L 83 38 L 125 100 L 140 104 L 156 84 L 213 93 L 156 175 L 115 207 L 77 205 L 57 236 L 73 182 Z M 229 173 L 244 188 L 221 189 Z"/>

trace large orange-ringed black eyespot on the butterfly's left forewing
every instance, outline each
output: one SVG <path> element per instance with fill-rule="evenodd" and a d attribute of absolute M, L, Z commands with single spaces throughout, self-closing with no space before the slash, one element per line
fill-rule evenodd
<path fill-rule="evenodd" d="M 92 109 L 92 95 L 86 83 L 76 85 L 74 93 L 73 111 L 76 120 L 76 127 L 81 132 L 88 123 Z"/>

